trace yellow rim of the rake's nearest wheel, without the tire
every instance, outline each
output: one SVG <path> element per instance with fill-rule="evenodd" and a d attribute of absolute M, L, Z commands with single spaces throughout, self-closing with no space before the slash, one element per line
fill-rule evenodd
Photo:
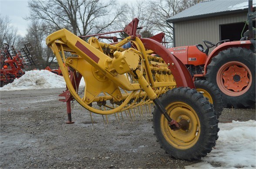
<path fill-rule="evenodd" d="M 194 146 L 200 136 L 200 121 L 195 110 L 184 102 L 173 102 L 165 108 L 172 119 L 177 122 L 185 121 L 186 124 L 185 128 L 173 131 L 162 115 L 160 124 L 165 140 L 177 149 L 189 149 Z"/>

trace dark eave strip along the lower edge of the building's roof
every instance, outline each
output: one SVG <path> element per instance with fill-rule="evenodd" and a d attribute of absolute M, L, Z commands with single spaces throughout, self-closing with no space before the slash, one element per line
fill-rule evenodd
<path fill-rule="evenodd" d="M 198 20 L 198 19 L 203 19 L 205 17 L 213 17 L 213 16 L 220 16 L 223 14 L 232 14 L 232 13 L 244 13 L 247 12 L 247 9 L 243 10 L 231 10 L 231 11 L 223 11 L 219 13 L 209 13 L 209 14 L 204 14 L 204 15 L 196 15 L 196 16 L 189 16 L 189 17 L 183 17 L 183 18 L 175 18 L 175 19 L 168 19 L 166 22 L 168 23 L 177 23 L 177 22 L 182 22 L 182 21 L 187 21 L 187 20 Z"/>

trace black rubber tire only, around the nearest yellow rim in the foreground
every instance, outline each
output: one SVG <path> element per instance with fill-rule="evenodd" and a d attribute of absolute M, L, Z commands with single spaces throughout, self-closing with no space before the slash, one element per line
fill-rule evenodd
<path fill-rule="evenodd" d="M 219 120 L 217 120 L 212 104 L 210 104 L 201 93 L 190 88 L 174 88 L 162 94 L 159 101 L 164 107 L 176 101 L 188 104 L 197 112 L 196 114 L 199 117 L 201 126 L 199 139 L 195 145 L 188 149 L 175 148 L 168 143 L 162 133 L 160 119 L 163 114 L 160 113 L 155 106 L 152 128 L 154 128 L 154 135 L 157 138 L 157 142 L 166 153 L 175 159 L 193 161 L 201 159 L 212 151 L 212 147 L 216 145 L 216 140 L 218 139 Z"/>

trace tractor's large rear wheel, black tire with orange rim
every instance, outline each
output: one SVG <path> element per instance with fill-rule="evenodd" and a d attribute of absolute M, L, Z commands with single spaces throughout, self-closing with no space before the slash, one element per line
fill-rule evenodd
<path fill-rule="evenodd" d="M 255 104 L 255 53 L 233 47 L 219 52 L 207 66 L 206 80 L 222 92 L 224 107 Z"/>

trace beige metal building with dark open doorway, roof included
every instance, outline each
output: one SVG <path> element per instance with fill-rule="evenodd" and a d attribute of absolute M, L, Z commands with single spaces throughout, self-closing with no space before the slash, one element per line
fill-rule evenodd
<path fill-rule="evenodd" d="M 255 11 L 256 0 L 253 0 Z M 240 40 L 248 13 L 248 0 L 209 0 L 172 16 L 174 46 L 216 43 L 224 39 Z M 253 21 L 255 26 L 255 21 Z M 248 29 L 248 26 L 243 32 Z"/>

